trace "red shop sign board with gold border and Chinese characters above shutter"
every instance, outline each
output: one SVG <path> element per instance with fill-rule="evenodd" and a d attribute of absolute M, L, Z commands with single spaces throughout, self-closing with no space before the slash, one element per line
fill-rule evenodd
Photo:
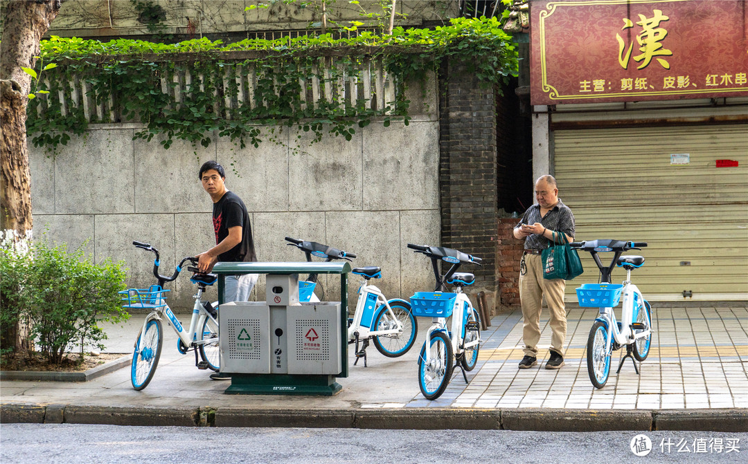
<path fill-rule="evenodd" d="M 747 3 L 530 1 L 530 101 L 748 96 Z"/>

